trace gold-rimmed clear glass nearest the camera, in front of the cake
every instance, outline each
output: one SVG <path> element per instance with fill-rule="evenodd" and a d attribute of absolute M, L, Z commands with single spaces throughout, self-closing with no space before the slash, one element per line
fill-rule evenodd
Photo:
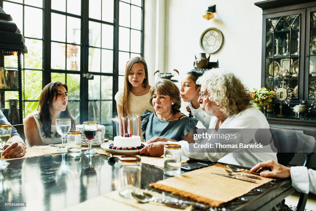
<path fill-rule="evenodd" d="M 139 155 L 123 155 L 119 158 L 119 195 L 133 198 L 131 193 L 140 193 L 142 163 Z"/>

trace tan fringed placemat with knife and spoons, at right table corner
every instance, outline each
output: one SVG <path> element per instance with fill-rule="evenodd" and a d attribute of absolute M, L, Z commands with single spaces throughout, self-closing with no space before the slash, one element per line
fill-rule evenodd
<path fill-rule="evenodd" d="M 212 174 L 220 173 L 228 175 L 228 173 L 224 172 L 223 168 L 227 169 L 224 165 L 216 164 L 176 177 L 170 177 L 157 183 L 149 184 L 149 186 L 188 197 L 198 202 L 208 203 L 210 206 L 219 206 L 273 180 L 261 177 L 262 180 L 256 180 L 257 183 L 251 183 Z"/>

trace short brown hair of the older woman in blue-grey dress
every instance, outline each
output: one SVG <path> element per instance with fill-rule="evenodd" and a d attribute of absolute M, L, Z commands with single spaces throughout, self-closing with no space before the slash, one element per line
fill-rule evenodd
<path fill-rule="evenodd" d="M 180 112 L 181 108 L 181 97 L 180 91 L 176 84 L 167 79 L 159 80 L 155 85 L 150 87 L 150 105 L 153 105 L 153 94 L 157 92 L 160 95 L 168 95 L 174 101 L 174 104 L 171 106 L 172 114 Z"/>

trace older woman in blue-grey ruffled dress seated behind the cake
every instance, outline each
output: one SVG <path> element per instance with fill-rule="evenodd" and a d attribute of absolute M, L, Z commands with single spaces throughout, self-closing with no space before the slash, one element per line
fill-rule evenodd
<path fill-rule="evenodd" d="M 143 137 L 147 143 L 156 141 L 189 141 L 196 128 L 197 119 L 180 113 L 181 98 L 179 88 L 170 80 L 162 79 L 151 86 L 150 104 L 155 112 L 146 110 L 141 115 Z"/>

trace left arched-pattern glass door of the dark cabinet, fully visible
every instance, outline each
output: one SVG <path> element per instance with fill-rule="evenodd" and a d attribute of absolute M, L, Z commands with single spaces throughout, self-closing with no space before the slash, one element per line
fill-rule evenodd
<path fill-rule="evenodd" d="M 300 14 L 266 19 L 265 87 L 273 90 L 285 81 L 292 98 L 299 91 L 300 23 Z"/>

